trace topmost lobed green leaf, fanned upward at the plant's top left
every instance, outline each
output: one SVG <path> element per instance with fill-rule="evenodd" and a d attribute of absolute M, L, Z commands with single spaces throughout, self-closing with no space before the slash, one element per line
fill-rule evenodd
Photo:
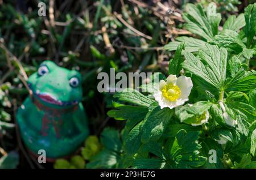
<path fill-rule="evenodd" d="M 205 14 L 203 7 L 188 3 L 185 7 L 183 18 L 187 22 L 185 28 L 188 31 L 203 37 L 205 40 L 210 40 L 218 33 L 218 24 L 220 24 L 221 15 L 216 13 L 216 5 L 210 3 Z"/>

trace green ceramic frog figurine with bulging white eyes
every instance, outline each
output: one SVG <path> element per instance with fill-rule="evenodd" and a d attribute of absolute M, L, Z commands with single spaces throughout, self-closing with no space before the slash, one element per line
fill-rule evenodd
<path fill-rule="evenodd" d="M 48 161 L 71 155 L 89 135 L 81 74 L 44 61 L 28 86 L 32 96 L 16 116 L 24 144 L 35 155 L 44 149 Z"/>

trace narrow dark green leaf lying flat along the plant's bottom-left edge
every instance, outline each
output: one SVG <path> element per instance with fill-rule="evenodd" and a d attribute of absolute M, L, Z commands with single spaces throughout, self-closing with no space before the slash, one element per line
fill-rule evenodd
<path fill-rule="evenodd" d="M 135 169 L 160 169 L 166 162 L 159 158 L 139 158 L 134 161 Z"/>

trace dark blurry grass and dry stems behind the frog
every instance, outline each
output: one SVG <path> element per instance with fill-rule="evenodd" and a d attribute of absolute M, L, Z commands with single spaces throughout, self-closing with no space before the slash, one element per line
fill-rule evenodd
<path fill-rule="evenodd" d="M 106 126 L 121 129 L 123 122 L 106 115 L 112 95 L 97 91 L 98 72 L 113 67 L 116 72 L 165 74 L 173 54 L 164 52 L 163 46 L 179 35 L 190 36 L 182 27 L 184 5 L 207 6 L 212 1 L 46 0 L 45 17 L 38 16 L 38 2 L 0 0 L 0 122 L 9 127 L 0 125 L 0 154 L 18 151 L 20 168 L 31 168 L 31 163 L 12 126 L 16 109 L 28 95 L 26 78 L 42 61 L 50 59 L 81 72 L 90 134 L 99 135 Z M 253 1 L 214 2 L 225 20 Z"/>

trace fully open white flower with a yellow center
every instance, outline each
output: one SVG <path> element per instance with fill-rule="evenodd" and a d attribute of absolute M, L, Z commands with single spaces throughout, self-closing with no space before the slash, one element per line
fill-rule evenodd
<path fill-rule="evenodd" d="M 177 78 L 176 75 L 170 75 L 166 82 L 160 80 L 159 90 L 154 93 L 154 97 L 161 109 L 166 107 L 172 109 L 188 101 L 192 87 L 191 78 L 186 76 Z"/>

